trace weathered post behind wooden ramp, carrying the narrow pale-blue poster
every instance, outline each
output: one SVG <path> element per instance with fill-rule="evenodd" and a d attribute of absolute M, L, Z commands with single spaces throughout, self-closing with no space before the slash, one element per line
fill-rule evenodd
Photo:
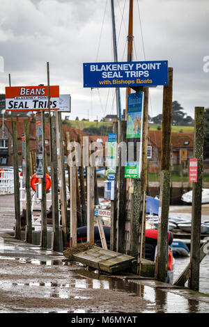
<path fill-rule="evenodd" d="M 118 142 L 118 122 L 113 123 L 113 133 L 117 134 L 116 141 Z M 116 156 L 118 156 L 118 147 L 116 151 Z M 118 161 L 118 160 L 117 160 Z M 110 250 L 116 251 L 117 242 L 117 175 L 118 166 L 116 166 L 116 177 L 114 181 L 114 200 L 111 200 L 111 227 L 110 227 Z"/>

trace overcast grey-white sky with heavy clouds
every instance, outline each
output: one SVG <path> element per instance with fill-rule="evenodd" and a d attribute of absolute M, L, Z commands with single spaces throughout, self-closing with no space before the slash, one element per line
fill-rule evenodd
<path fill-rule="evenodd" d="M 94 120 L 116 113 L 114 89 L 83 88 L 82 71 L 85 62 L 114 61 L 110 3 L 0 0 L 0 56 L 4 58 L 0 92 L 8 86 L 8 73 L 12 86 L 47 84 L 49 61 L 50 84 L 72 97 L 72 119 Z M 114 3 L 118 61 L 125 61 L 129 1 Z M 209 106 L 209 72 L 203 72 L 203 57 L 209 56 L 208 0 L 134 0 L 134 61 L 145 59 L 139 10 L 146 60 L 169 61 L 173 100 L 194 117 L 194 106 Z M 162 113 L 161 86 L 150 90 L 149 114 L 158 113 Z"/>

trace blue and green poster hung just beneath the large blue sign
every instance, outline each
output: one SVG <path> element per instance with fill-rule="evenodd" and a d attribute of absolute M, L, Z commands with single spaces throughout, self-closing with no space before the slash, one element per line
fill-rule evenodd
<path fill-rule="evenodd" d="M 126 138 L 141 137 L 142 100 L 143 92 L 130 93 L 128 95 Z"/>

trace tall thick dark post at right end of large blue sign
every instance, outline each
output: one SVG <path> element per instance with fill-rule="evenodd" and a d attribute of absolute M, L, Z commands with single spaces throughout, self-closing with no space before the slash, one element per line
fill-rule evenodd
<path fill-rule="evenodd" d="M 161 177 L 160 177 L 160 207 L 157 235 L 157 259 L 155 274 L 157 280 L 167 281 L 168 257 L 168 221 L 171 180 L 171 125 L 172 125 L 172 93 L 173 68 L 168 69 L 168 85 L 163 88 L 162 109 L 162 146 L 161 146 Z"/>

